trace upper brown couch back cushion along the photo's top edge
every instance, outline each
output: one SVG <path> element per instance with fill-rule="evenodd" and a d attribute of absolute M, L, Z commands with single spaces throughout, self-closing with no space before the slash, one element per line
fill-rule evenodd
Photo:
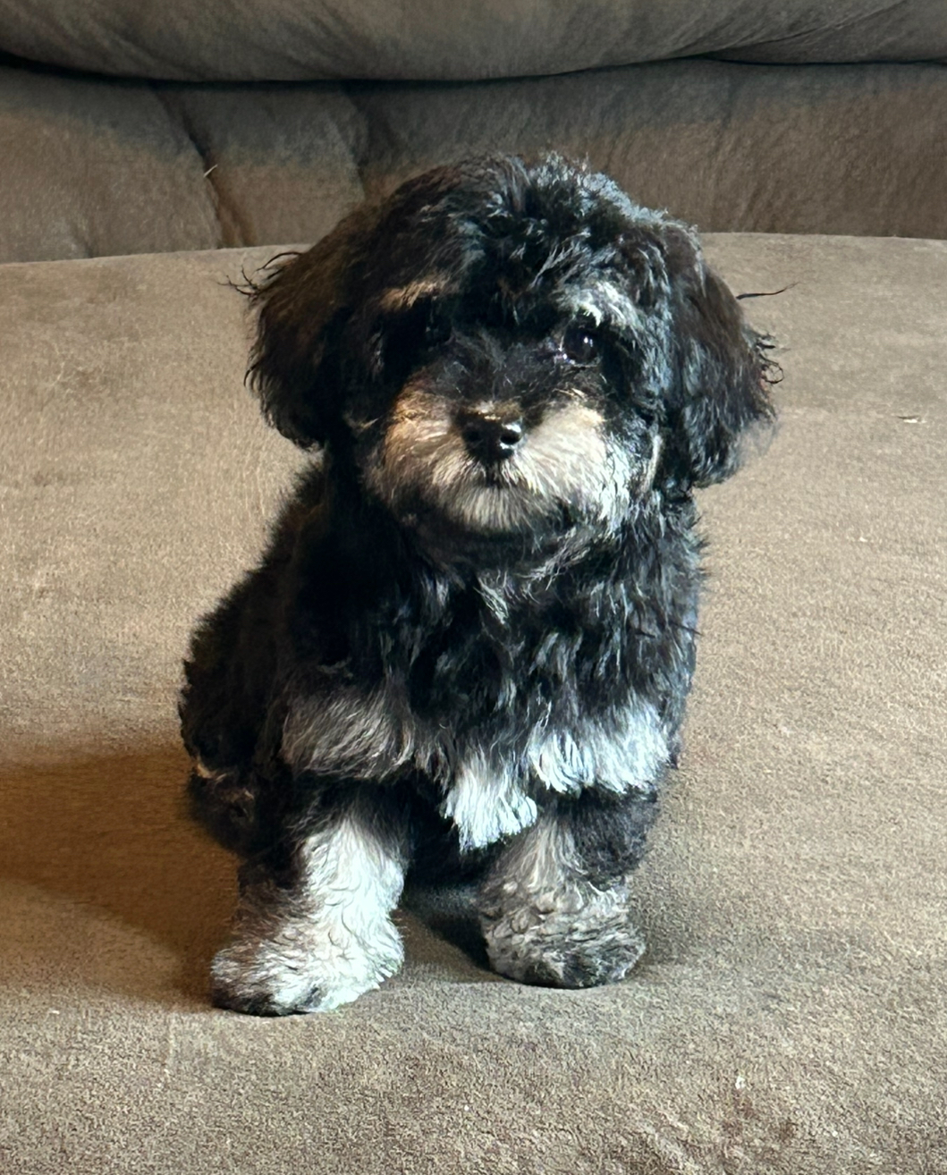
<path fill-rule="evenodd" d="M 0 0 L 0 49 L 182 81 L 475 79 L 705 53 L 751 61 L 947 56 L 940 0 Z"/>

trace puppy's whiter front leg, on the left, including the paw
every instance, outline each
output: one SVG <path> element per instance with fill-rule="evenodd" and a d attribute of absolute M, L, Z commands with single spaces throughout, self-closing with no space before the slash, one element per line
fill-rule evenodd
<path fill-rule="evenodd" d="M 404 882 L 408 830 L 396 805 L 354 791 L 288 847 L 288 866 L 250 861 L 241 870 L 234 936 L 211 968 L 221 1007 L 325 1012 L 401 967 L 390 915 Z"/>

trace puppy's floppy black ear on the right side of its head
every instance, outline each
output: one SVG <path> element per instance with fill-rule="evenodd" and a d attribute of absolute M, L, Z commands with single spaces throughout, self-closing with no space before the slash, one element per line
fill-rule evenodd
<path fill-rule="evenodd" d="M 730 477 L 741 439 L 771 425 L 770 341 L 744 318 L 740 303 L 705 263 L 694 237 L 671 229 L 666 262 L 672 300 L 672 384 L 665 468 L 687 486 Z"/>

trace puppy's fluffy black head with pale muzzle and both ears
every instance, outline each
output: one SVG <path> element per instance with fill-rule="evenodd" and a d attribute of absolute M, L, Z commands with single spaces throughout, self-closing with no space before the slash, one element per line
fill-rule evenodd
<path fill-rule="evenodd" d="M 614 529 L 727 477 L 772 418 L 763 341 L 693 233 L 557 157 L 411 180 L 254 300 L 267 416 L 409 526 Z"/>

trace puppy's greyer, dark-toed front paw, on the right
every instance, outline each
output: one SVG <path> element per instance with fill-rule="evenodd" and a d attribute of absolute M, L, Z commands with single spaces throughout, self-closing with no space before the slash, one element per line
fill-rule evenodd
<path fill-rule="evenodd" d="M 597 987 L 625 979 L 644 954 L 645 939 L 624 895 L 576 892 L 570 898 L 485 911 L 481 928 L 493 969 L 540 987 Z"/>

